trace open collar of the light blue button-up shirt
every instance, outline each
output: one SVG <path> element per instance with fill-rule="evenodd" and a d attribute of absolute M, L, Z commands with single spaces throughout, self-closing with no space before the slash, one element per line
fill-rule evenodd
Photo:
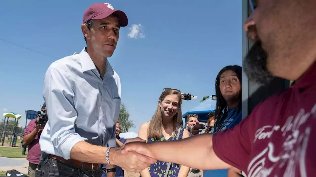
<path fill-rule="evenodd" d="M 81 61 L 82 72 L 89 71 L 89 70 L 97 70 L 97 68 L 94 65 L 94 62 L 92 61 L 89 54 L 87 53 L 86 48 L 83 48 L 82 51 L 80 52 L 80 61 Z M 114 71 L 112 69 L 112 66 L 110 65 L 109 61 L 106 60 L 105 75 L 103 78 L 112 77 L 113 74 L 114 74 Z"/>

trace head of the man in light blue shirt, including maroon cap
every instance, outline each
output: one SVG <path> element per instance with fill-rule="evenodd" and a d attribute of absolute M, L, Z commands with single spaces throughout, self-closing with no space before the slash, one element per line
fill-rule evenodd
<path fill-rule="evenodd" d="M 126 14 L 110 3 L 92 4 L 84 12 L 81 25 L 88 53 L 98 51 L 97 55 L 103 58 L 111 57 L 119 40 L 120 27 L 127 24 Z"/>

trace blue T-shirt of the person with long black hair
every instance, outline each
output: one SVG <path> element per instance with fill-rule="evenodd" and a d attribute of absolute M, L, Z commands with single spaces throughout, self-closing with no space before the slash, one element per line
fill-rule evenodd
<path fill-rule="evenodd" d="M 212 130 L 210 133 L 217 133 L 220 131 L 223 131 L 227 128 L 232 128 L 236 124 L 240 123 L 242 117 L 241 117 L 241 111 L 239 113 L 236 112 L 235 108 L 228 109 L 227 116 L 222 122 L 222 125 L 218 128 L 218 130 L 215 132 L 214 127 L 217 126 L 216 123 L 213 126 Z M 218 177 L 226 177 L 227 176 L 228 169 L 223 169 L 223 170 L 203 170 L 203 176 L 218 176 Z"/>

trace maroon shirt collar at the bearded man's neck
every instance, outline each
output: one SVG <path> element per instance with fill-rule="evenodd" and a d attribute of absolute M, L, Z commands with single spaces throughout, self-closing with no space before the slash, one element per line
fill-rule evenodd
<path fill-rule="evenodd" d="M 306 88 L 316 83 L 316 61 L 311 67 L 291 85 L 292 88 Z"/>

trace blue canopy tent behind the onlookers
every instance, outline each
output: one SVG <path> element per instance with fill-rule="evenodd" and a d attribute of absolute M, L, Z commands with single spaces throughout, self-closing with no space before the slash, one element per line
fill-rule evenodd
<path fill-rule="evenodd" d="M 187 111 L 185 114 L 182 115 L 182 117 L 185 119 L 185 123 L 187 123 L 187 116 L 189 114 L 197 114 L 198 121 L 206 123 L 208 119 L 207 115 L 210 112 L 215 112 L 215 108 L 216 100 L 212 100 L 212 97 L 209 97 L 203 102 L 197 104 L 197 106 L 194 106 L 191 110 Z"/>

